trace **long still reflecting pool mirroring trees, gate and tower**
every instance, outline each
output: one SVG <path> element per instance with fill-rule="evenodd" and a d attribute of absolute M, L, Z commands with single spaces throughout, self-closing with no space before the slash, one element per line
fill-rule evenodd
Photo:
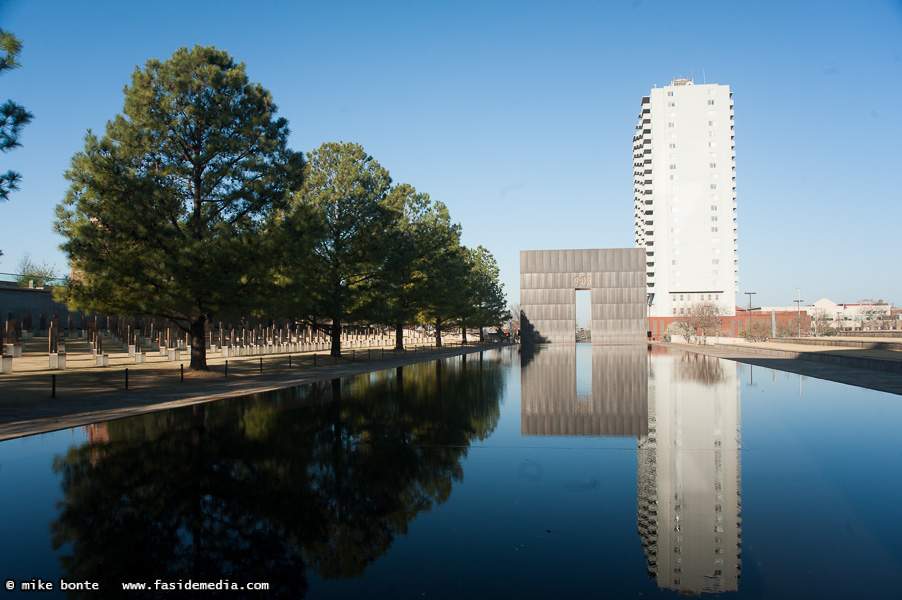
<path fill-rule="evenodd" d="M 693 353 L 491 350 L 0 443 L 0 578 L 900 598 L 900 423 L 899 396 Z"/>

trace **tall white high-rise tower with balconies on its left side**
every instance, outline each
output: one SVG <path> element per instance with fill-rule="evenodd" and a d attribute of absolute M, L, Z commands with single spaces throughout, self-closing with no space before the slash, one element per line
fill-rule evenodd
<path fill-rule="evenodd" d="M 736 153 L 730 86 L 675 79 L 642 98 L 633 137 L 636 246 L 650 317 L 701 301 L 736 310 Z"/>

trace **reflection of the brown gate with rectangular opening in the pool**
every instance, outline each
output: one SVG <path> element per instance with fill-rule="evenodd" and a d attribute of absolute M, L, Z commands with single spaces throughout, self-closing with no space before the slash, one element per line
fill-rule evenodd
<path fill-rule="evenodd" d="M 586 353 L 590 373 L 577 369 Z M 521 375 L 521 434 L 644 436 L 646 353 L 644 344 L 541 347 Z"/>

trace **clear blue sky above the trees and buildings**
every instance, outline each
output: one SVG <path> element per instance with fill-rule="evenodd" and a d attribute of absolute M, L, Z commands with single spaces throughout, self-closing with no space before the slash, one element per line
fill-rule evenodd
<path fill-rule="evenodd" d="M 756 305 L 902 305 L 902 2 L 50 2 L 0 0 L 24 44 L 0 100 L 35 115 L 0 169 L 0 272 L 67 271 L 53 232 L 87 129 L 136 66 L 215 45 L 246 63 L 291 145 L 358 142 L 494 254 L 633 245 L 642 96 L 693 76 L 735 102 L 739 292 Z"/>

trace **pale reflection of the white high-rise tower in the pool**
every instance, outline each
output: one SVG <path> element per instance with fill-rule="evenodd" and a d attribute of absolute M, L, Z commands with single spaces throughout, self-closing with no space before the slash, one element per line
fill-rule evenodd
<path fill-rule="evenodd" d="M 652 363 L 639 438 L 638 527 L 649 576 L 681 593 L 739 587 L 736 363 L 683 353 Z"/>

